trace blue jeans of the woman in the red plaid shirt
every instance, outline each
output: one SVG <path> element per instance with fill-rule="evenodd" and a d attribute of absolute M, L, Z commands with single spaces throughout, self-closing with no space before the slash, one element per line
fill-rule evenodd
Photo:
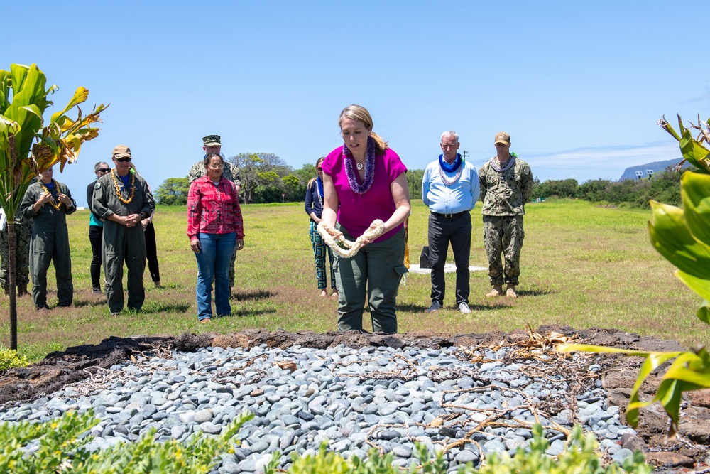
<path fill-rule="evenodd" d="M 217 316 L 231 314 L 229 305 L 229 264 L 236 246 L 236 232 L 197 234 L 200 240 L 197 257 L 197 319 L 212 318 L 212 280 Z"/>

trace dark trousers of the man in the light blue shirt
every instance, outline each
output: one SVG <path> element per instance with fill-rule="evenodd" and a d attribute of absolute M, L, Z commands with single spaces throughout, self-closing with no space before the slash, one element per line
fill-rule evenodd
<path fill-rule="evenodd" d="M 456 304 L 469 302 L 469 257 L 471 255 L 471 213 L 469 211 L 445 217 L 429 216 L 429 256 L 432 260 L 432 301 L 444 303 L 446 279 L 444 264 L 449 242 L 456 262 Z"/>

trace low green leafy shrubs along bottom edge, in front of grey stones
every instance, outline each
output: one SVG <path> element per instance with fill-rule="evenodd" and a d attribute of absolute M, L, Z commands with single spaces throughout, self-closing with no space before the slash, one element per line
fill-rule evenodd
<path fill-rule="evenodd" d="M 85 414 L 69 412 L 45 423 L 0 423 L 0 473 L 13 474 L 204 474 L 214 468 L 217 456 L 231 453 L 231 438 L 252 414 L 241 414 L 219 436 L 195 434 L 185 443 L 176 440 L 158 443 L 155 430 L 143 435 L 135 443 L 120 443 L 111 448 L 89 452 L 86 449 L 93 436 L 87 434 L 98 420 L 91 411 Z M 596 453 L 594 434 L 586 438 L 581 427 L 575 426 L 567 449 L 552 458 L 545 454 L 548 441 L 540 425 L 533 428 L 529 451 L 519 448 L 512 458 L 507 453 L 491 456 L 479 470 L 471 463 L 459 466 L 459 474 L 648 474 L 651 468 L 643 462 L 643 454 L 634 453 L 623 463 L 603 466 Z M 415 457 L 407 471 L 393 466 L 391 453 L 380 456 L 372 448 L 366 458 L 344 459 L 339 453 L 327 450 L 323 443 L 315 455 L 298 456 L 293 453 L 289 474 L 445 474 L 447 463 L 439 451 L 432 459 L 427 447 L 415 443 Z M 264 469 L 265 474 L 278 470 L 279 453 L 275 453 Z"/>

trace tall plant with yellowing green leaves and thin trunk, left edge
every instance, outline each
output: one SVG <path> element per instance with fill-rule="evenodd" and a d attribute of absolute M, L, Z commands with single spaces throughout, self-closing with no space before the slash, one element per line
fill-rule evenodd
<path fill-rule="evenodd" d="M 89 91 L 79 87 L 64 109 L 55 112 L 45 124 L 44 113 L 52 105 L 48 99 L 58 89 L 46 88 L 47 78 L 37 65 L 12 64 L 0 70 L 0 205 L 7 217 L 9 261 L 15 262 L 15 214 L 32 179 L 46 169 L 77 159 L 82 144 L 94 139 L 99 129 L 103 104 L 86 116 L 78 107 Z M 77 117 L 67 113 L 77 109 Z M 17 301 L 14 265 L 8 265 L 10 283 L 10 348 L 17 349 Z"/>

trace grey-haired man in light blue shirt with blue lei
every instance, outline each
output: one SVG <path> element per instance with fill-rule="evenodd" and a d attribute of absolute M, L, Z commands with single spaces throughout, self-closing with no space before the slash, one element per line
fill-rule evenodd
<path fill-rule="evenodd" d="M 456 303 L 461 313 L 469 308 L 469 256 L 471 254 L 471 209 L 479 199 L 476 167 L 457 153 L 459 135 L 452 130 L 442 134 L 442 154 L 429 163 L 422 179 L 422 200 L 429 206 L 429 256 L 432 262 L 432 306 L 444 305 L 446 264 L 449 242 L 456 262 Z"/>

